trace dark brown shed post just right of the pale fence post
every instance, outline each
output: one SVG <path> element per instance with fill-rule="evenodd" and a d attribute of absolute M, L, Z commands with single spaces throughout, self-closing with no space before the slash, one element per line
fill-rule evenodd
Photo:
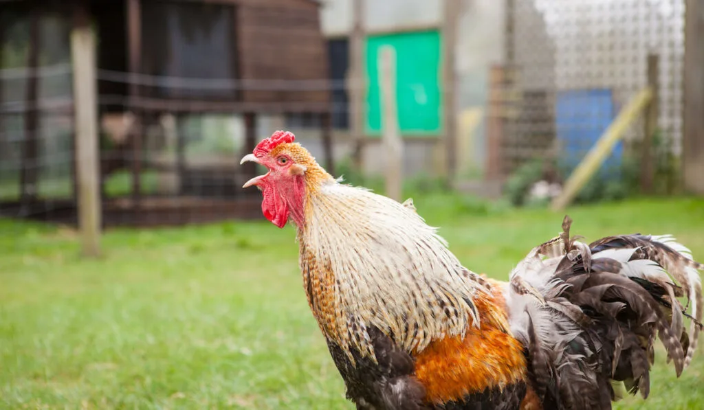
<path fill-rule="evenodd" d="M 140 0 L 127 0 L 127 56 L 130 70 L 130 110 L 134 113 L 132 128 L 132 205 L 139 212 L 142 202 L 142 138 L 144 118 L 139 101 L 139 84 L 137 77 L 142 70 L 142 8 Z"/>

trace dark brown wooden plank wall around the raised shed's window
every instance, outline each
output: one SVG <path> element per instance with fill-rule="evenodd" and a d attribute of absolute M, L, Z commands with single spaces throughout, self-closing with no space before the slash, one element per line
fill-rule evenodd
<path fill-rule="evenodd" d="M 141 1 L 168 4 L 185 0 Z M 45 1 L 27 0 L 20 1 L 21 3 L 46 8 Z M 160 107 L 172 106 L 168 105 L 167 100 L 176 98 L 180 101 L 218 101 L 220 104 L 212 105 L 212 110 L 325 113 L 330 109 L 327 44 L 320 30 L 320 4 L 317 1 L 192 0 L 188 3 L 233 6 L 222 8 L 222 13 L 234 14 L 230 41 L 232 55 L 225 58 L 232 58 L 232 75 L 234 79 L 244 80 L 244 89 L 232 92 L 231 95 L 213 95 L 212 91 L 199 93 L 195 90 L 178 93 L 177 96 L 165 96 L 163 92 L 156 92 L 156 87 L 140 86 L 141 97 L 163 100 L 163 103 L 154 103 Z M 89 0 L 89 5 L 97 27 L 98 68 L 110 70 L 115 72 L 115 76 L 126 79 L 127 76 L 122 75 L 129 71 L 126 0 Z M 142 18 L 144 17 L 143 15 Z M 66 18 L 70 18 L 70 15 Z M 149 25 L 146 20 L 144 23 Z M 147 34 L 142 31 L 143 36 Z M 168 41 L 168 36 L 163 37 L 163 41 Z M 142 46 L 148 42 L 141 41 Z M 168 49 L 168 44 L 164 48 Z M 142 63 L 141 71 L 144 72 L 150 66 L 144 55 Z M 203 67 L 208 67 L 208 61 L 203 61 Z M 158 74 L 149 70 L 146 73 Z M 203 70 L 203 75 L 190 74 L 194 77 L 213 77 L 208 70 Z M 271 83 L 272 80 L 284 81 L 279 84 L 281 87 L 277 87 Z M 154 89 L 154 92 L 150 92 L 150 89 Z M 130 87 L 125 82 L 103 78 L 99 80 L 99 94 L 103 112 L 120 111 L 125 108 Z"/>

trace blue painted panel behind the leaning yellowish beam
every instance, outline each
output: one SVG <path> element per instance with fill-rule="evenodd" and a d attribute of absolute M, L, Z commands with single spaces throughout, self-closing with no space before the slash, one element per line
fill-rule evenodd
<path fill-rule="evenodd" d="M 569 174 L 596 144 L 614 119 L 615 107 L 610 89 L 559 91 L 555 103 L 555 127 L 562 148 L 562 167 Z M 623 143 L 619 141 L 600 169 L 602 175 L 616 176 L 621 164 Z M 609 169 L 612 172 L 608 172 Z"/>

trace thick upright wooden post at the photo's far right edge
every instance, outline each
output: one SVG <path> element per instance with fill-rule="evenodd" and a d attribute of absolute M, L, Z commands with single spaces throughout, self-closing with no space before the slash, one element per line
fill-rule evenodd
<path fill-rule="evenodd" d="M 684 22 L 684 189 L 704 194 L 704 4 L 686 0 Z"/>

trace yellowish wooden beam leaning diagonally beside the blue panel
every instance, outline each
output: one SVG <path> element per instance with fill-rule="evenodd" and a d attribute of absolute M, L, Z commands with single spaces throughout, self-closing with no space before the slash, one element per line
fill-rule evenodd
<path fill-rule="evenodd" d="M 648 106 L 652 98 L 653 92 L 650 91 L 649 87 L 646 87 L 636 94 L 621 110 L 604 134 L 589 150 L 589 153 L 586 154 L 584 160 L 577 165 L 570 178 L 567 179 L 565 186 L 562 188 L 562 193 L 553 200 L 553 210 L 562 210 L 567 205 L 570 205 L 574 197 L 577 196 L 579 191 L 584 188 L 584 185 L 599 169 L 607 155 L 609 155 L 616 143 L 623 138 L 628 127 L 636 120 L 641 111 Z"/>

